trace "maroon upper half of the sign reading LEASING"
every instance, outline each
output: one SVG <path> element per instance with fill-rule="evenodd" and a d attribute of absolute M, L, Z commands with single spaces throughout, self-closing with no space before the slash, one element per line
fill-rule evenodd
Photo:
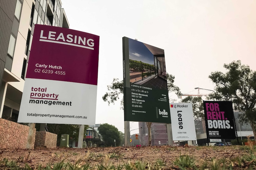
<path fill-rule="evenodd" d="M 99 36 L 48 25 L 35 25 L 34 30 L 39 41 L 33 38 L 30 56 L 34 57 L 29 58 L 26 78 L 97 85 Z M 43 69 L 61 70 L 65 76 L 45 74 Z"/>

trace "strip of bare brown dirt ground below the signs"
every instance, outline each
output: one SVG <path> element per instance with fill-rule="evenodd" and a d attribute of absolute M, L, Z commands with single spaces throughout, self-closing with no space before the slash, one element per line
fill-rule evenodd
<path fill-rule="evenodd" d="M 15 150 L 0 149 L 0 159 L 18 160 L 20 165 L 28 163 L 31 167 L 38 165 L 46 166 L 60 162 L 63 159 L 69 162 L 75 162 L 77 158 L 82 161 L 95 165 L 105 159 L 105 155 L 110 155 L 110 163 L 115 165 L 130 160 L 146 161 L 155 163 L 157 159 L 165 162 L 166 166 L 173 166 L 173 161 L 180 155 L 193 156 L 196 161 L 211 160 L 211 158 L 235 158 L 249 155 L 248 151 L 241 149 L 241 146 L 192 146 L 192 147 L 170 147 L 170 146 L 152 146 L 152 147 L 108 147 L 108 148 L 38 148 L 34 150 Z"/>

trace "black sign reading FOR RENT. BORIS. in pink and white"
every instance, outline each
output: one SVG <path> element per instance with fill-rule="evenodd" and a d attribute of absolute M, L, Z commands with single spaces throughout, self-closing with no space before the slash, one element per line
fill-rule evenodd
<path fill-rule="evenodd" d="M 236 139 L 231 101 L 203 101 L 206 133 L 210 139 Z"/>

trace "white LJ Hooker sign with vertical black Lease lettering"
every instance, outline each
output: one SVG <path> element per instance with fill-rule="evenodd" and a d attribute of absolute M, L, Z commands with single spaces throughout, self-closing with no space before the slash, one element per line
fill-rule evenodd
<path fill-rule="evenodd" d="M 170 103 L 173 140 L 197 140 L 192 103 Z"/>

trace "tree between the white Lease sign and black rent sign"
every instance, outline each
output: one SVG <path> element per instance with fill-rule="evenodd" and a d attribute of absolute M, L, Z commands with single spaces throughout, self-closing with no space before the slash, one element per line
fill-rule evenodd
<path fill-rule="evenodd" d="M 192 103 L 194 119 L 198 120 L 200 118 L 204 118 L 204 111 L 203 111 L 203 100 L 201 96 L 192 97 L 187 96 L 186 98 L 181 100 L 182 103 Z"/>

